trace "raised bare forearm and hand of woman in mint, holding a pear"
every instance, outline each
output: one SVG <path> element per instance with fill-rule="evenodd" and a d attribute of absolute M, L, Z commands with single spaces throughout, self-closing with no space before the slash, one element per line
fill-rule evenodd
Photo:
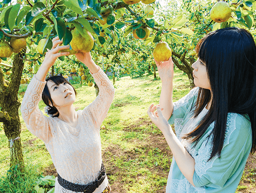
<path fill-rule="evenodd" d="M 173 102 L 172 102 L 172 89 L 173 89 L 173 61 L 172 57 L 169 58 L 166 62 L 157 62 L 157 69 L 160 76 L 160 79 L 162 81 L 162 89 L 161 89 L 161 95 L 160 95 L 160 108 L 162 110 L 163 116 L 166 118 L 166 120 L 169 120 L 169 118 L 172 115 L 173 110 Z"/>

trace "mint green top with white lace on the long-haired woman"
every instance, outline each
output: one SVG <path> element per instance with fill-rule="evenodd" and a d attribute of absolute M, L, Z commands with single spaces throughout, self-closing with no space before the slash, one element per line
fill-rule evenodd
<path fill-rule="evenodd" d="M 178 138 L 185 124 L 192 118 L 191 107 L 196 103 L 198 89 L 192 89 L 189 94 L 174 103 L 173 113 L 168 122 L 175 125 Z M 207 161 L 212 149 L 210 133 L 213 127 L 214 122 L 195 147 L 188 141 L 181 140 L 188 153 L 195 159 L 195 187 L 183 176 L 173 158 L 166 193 L 235 193 L 252 145 L 250 121 L 243 115 L 228 113 L 221 156 L 215 156 Z"/>

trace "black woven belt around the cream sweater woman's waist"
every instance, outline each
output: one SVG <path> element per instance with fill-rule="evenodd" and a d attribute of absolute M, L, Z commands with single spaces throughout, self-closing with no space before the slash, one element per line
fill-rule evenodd
<path fill-rule="evenodd" d="M 92 181 L 86 185 L 74 184 L 69 182 L 58 174 L 58 183 L 67 190 L 71 190 L 73 192 L 83 192 L 83 193 L 93 193 L 97 187 L 104 181 L 106 177 L 106 170 L 102 163 L 101 170 L 99 172 L 99 176 L 95 181 Z"/>

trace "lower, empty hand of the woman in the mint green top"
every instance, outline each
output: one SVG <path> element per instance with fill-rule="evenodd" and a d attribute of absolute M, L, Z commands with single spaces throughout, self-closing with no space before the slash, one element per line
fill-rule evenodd
<path fill-rule="evenodd" d="M 155 111 L 155 109 L 157 109 Z M 151 121 L 164 133 L 165 131 L 169 130 L 170 125 L 166 118 L 162 114 L 162 109 L 160 109 L 160 105 L 151 104 L 148 108 L 148 116 Z"/>

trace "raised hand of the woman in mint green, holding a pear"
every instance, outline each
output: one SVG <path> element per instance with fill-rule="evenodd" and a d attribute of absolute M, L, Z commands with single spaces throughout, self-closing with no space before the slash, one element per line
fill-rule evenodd
<path fill-rule="evenodd" d="M 169 60 L 166 62 L 157 62 L 157 60 L 155 59 L 154 61 L 157 65 L 157 70 L 158 70 L 161 81 L 162 82 L 172 81 L 174 76 L 172 57 L 170 57 Z"/>

